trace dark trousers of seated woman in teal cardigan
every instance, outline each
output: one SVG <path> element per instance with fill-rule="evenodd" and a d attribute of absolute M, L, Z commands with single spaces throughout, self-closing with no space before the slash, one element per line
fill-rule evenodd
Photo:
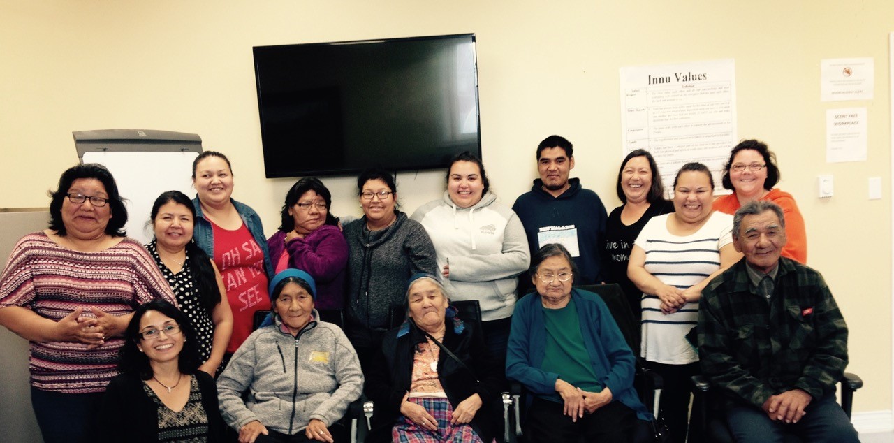
<path fill-rule="evenodd" d="M 577 422 L 571 422 L 571 417 L 562 413 L 562 407 L 561 403 L 535 397 L 527 409 L 527 441 L 631 441 L 637 413 L 617 400 L 594 413 L 584 413 Z"/>

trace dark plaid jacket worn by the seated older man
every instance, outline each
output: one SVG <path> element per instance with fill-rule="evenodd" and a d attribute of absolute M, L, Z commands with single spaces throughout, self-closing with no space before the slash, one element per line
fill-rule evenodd
<path fill-rule="evenodd" d="M 745 259 L 702 292 L 698 314 L 702 372 L 726 407 L 761 407 L 799 388 L 814 399 L 835 390 L 848 365 L 848 326 L 819 272 L 780 258 L 770 302 L 755 294 Z"/>

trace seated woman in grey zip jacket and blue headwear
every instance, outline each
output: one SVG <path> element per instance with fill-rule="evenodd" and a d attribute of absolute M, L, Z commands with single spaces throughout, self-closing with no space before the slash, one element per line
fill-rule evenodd
<path fill-rule="evenodd" d="M 242 443 L 347 440 L 338 422 L 363 388 L 357 353 L 342 329 L 318 319 L 307 272 L 283 270 L 269 290 L 273 311 L 217 380 L 223 420 Z"/>

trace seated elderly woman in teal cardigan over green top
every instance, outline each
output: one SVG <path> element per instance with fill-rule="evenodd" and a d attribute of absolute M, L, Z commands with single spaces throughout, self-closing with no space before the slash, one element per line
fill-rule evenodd
<path fill-rule="evenodd" d="M 512 314 L 506 377 L 527 396 L 531 441 L 629 441 L 649 413 L 633 388 L 636 357 L 599 295 L 571 287 L 577 267 L 561 244 L 531 258 L 536 294 Z"/>

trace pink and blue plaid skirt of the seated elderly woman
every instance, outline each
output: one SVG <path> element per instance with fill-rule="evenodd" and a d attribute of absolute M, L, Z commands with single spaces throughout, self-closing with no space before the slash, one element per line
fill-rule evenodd
<path fill-rule="evenodd" d="M 392 441 L 401 443 L 482 443 L 481 438 L 466 424 L 451 424 L 453 406 L 446 398 L 412 397 L 408 402 L 426 408 L 438 422 L 438 430 L 426 430 L 401 415 L 392 428 Z"/>

